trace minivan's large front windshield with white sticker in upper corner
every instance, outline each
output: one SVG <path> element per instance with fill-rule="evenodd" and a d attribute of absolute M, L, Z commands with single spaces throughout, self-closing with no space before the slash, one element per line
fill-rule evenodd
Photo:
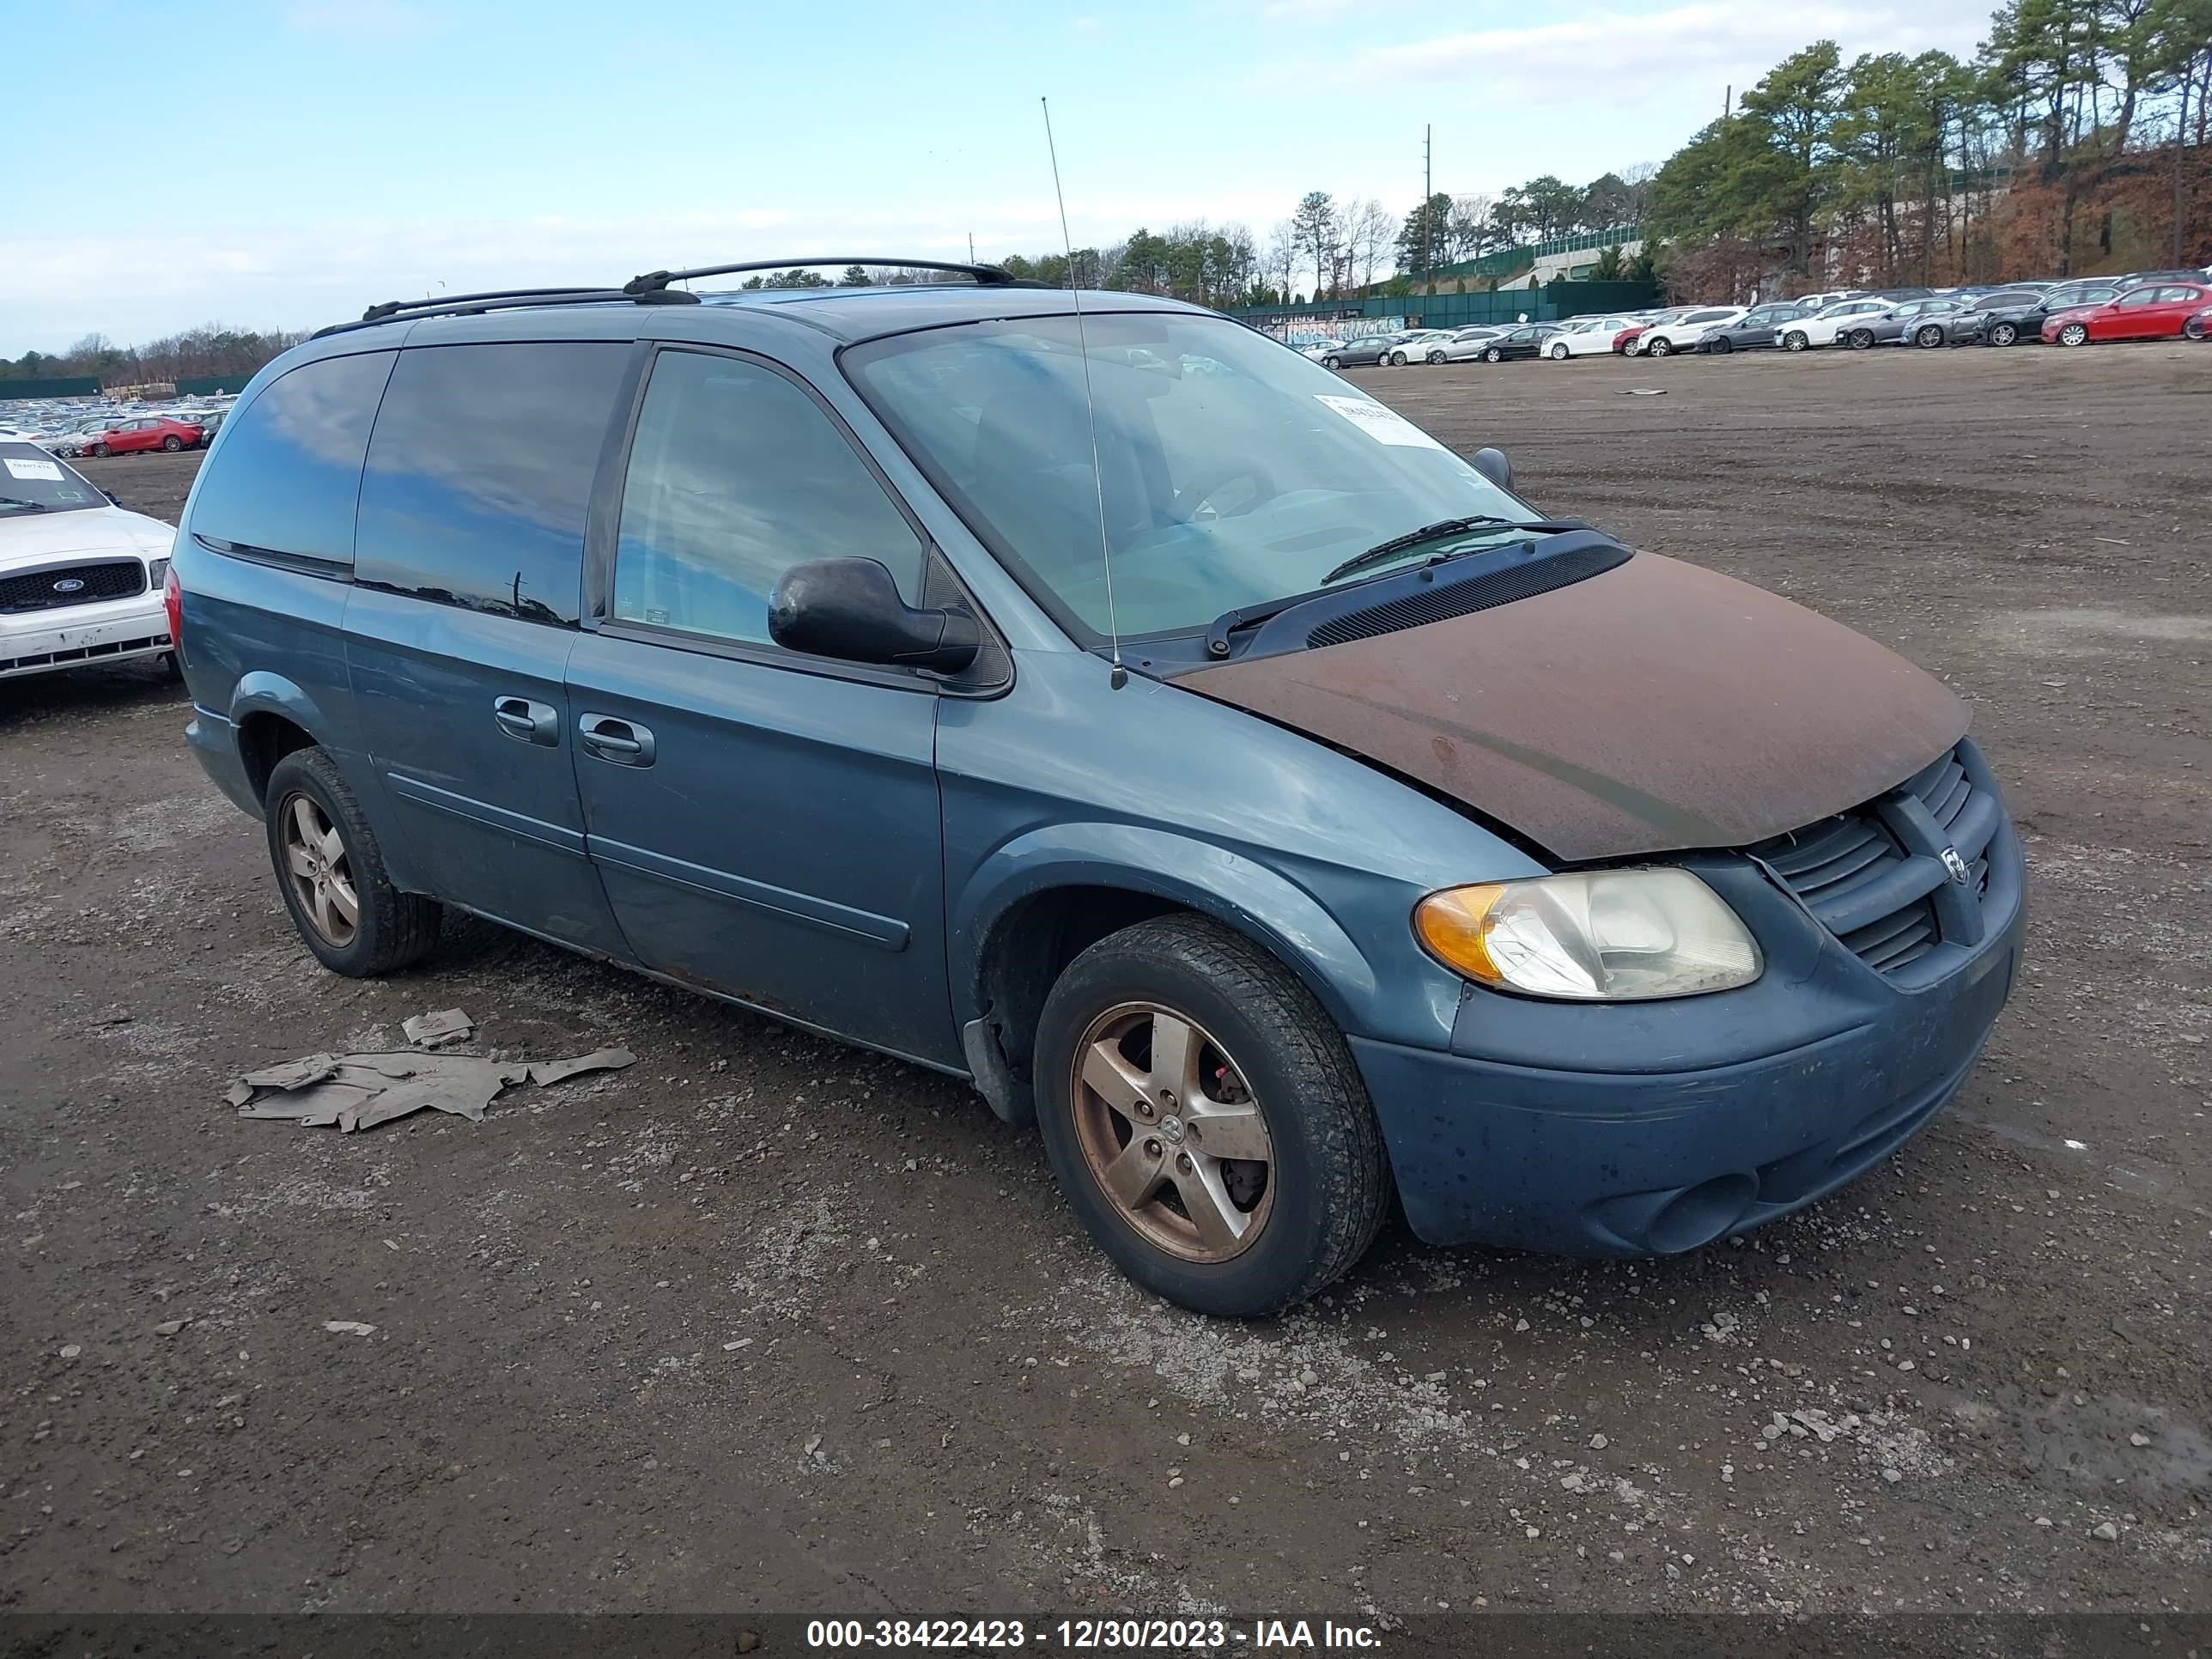
<path fill-rule="evenodd" d="M 1124 635 L 1305 593 L 1440 520 L 1533 518 L 1420 427 L 1239 323 L 1106 312 L 1084 330 L 1097 484 L 1073 316 L 896 334 L 843 361 L 969 526 L 1086 644 L 1108 630 L 1099 491 Z"/>

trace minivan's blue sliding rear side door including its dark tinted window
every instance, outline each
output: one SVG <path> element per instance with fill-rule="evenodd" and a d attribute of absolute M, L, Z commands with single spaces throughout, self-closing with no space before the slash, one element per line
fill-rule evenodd
<path fill-rule="evenodd" d="M 628 956 L 584 856 L 564 672 L 584 518 L 633 347 L 400 352 L 354 531 L 345 666 L 411 883 Z"/>

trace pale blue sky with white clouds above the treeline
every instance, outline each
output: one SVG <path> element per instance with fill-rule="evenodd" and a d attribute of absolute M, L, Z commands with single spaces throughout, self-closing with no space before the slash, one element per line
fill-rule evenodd
<path fill-rule="evenodd" d="M 1989 0 L 0 0 L 0 356 L 801 254 L 1077 246 L 1663 161 L 1778 58 Z"/>

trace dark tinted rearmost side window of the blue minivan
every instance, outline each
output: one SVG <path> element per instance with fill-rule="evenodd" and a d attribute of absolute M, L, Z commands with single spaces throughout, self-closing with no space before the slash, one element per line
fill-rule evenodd
<path fill-rule="evenodd" d="M 261 387 L 223 422 L 192 533 L 246 553 L 352 564 L 361 458 L 394 356 L 325 356 Z"/>

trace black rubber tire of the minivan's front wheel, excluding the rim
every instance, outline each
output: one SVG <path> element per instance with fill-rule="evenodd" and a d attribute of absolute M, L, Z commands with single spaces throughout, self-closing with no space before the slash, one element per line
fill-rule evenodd
<path fill-rule="evenodd" d="M 1272 1212 L 1230 1261 L 1181 1261 L 1146 1243 L 1084 1161 L 1071 1057 L 1091 1022 L 1121 1002 L 1197 1020 L 1259 1097 L 1274 1146 Z M 1044 1150 L 1084 1230 L 1124 1274 L 1183 1307 L 1254 1318 L 1303 1303 L 1349 1272 L 1383 1225 L 1389 1161 L 1352 1048 L 1290 969 L 1219 922 L 1164 916 L 1077 956 L 1037 1020 L 1033 1077 Z"/>

